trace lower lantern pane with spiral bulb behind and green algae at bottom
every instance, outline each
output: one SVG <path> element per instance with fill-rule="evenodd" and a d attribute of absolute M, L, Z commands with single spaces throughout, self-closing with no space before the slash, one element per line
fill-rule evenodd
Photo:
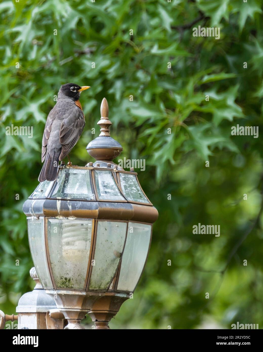
<path fill-rule="evenodd" d="M 90 219 L 48 219 L 49 256 L 57 288 L 84 288 L 91 236 Z"/>

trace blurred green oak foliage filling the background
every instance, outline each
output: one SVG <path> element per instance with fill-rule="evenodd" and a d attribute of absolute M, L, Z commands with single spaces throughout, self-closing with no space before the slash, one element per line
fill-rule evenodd
<path fill-rule="evenodd" d="M 54 95 L 74 82 L 92 89 L 71 160 L 93 161 L 85 147 L 105 96 L 121 157 L 146 159 L 139 180 L 159 211 L 144 275 L 111 327 L 262 328 L 262 1 L 9 0 L 0 16 L 0 309 L 14 313 L 34 285 L 22 205 Z M 193 37 L 198 25 L 219 26 L 220 39 Z M 6 136 L 12 124 L 33 138 Z M 237 124 L 259 138 L 231 136 Z M 220 237 L 194 235 L 198 223 Z"/>

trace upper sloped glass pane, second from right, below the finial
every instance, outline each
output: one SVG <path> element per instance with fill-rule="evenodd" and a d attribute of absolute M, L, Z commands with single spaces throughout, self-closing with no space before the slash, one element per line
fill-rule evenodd
<path fill-rule="evenodd" d="M 125 200 L 121 195 L 111 171 L 94 170 L 95 183 L 100 200 Z"/>

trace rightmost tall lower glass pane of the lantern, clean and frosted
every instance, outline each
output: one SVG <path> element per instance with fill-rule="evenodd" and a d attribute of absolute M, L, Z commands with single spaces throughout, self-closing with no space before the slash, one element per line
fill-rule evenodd
<path fill-rule="evenodd" d="M 134 291 L 143 271 L 150 238 L 151 225 L 129 222 L 117 290 Z"/>

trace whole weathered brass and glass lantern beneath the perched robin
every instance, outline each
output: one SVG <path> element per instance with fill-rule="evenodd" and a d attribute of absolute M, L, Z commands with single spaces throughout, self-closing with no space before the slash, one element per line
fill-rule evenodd
<path fill-rule="evenodd" d="M 65 329 L 83 328 L 87 313 L 96 329 L 109 328 L 142 275 L 158 218 L 137 173 L 112 161 L 123 148 L 110 137 L 105 98 L 98 124 L 86 148 L 95 164 L 60 165 L 57 179 L 41 182 L 23 206 L 38 278 Z"/>

